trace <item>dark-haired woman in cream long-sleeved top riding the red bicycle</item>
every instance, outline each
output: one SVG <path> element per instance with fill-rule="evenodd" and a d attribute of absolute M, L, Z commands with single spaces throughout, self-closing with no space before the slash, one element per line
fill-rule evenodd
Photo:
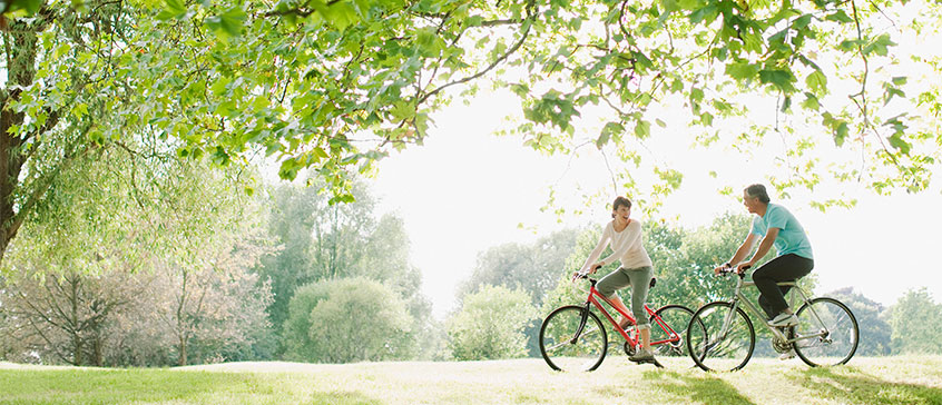
<path fill-rule="evenodd" d="M 651 352 L 650 322 L 645 312 L 645 300 L 648 297 L 654 268 L 651 267 L 651 258 L 648 257 L 648 253 L 641 244 L 641 224 L 630 219 L 630 215 L 631 200 L 617 197 L 611 205 L 611 217 L 614 219 L 606 225 L 598 245 L 586 258 L 586 264 L 582 265 L 580 271 L 596 273 L 600 267 L 616 259 L 621 260 L 621 267 L 602 277 L 596 288 L 602 296 L 609 298 L 615 307 L 627 314 L 628 308 L 625 307 L 625 303 L 615 292 L 631 286 L 631 313 L 635 315 L 638 325 L 641 348 L 629 359 L 632 362 L 650 362 L 654 360 L 654 353 Z M 609 245 L 614 250 L 612 254 L 596 261 L 606 246 Z M 618 324 L 625 328 L 628 325 L 628 319 L 622 316 Z"/>

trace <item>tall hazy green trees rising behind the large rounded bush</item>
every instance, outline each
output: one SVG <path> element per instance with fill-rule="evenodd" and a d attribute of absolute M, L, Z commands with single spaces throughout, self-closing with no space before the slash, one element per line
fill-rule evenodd
<path fill-rule="evenodd" d="M 276 327 L 287 318 L 296 288 L 355 276 L 387 284 L 406 299 L 413 316 L 428 318 L 431 308 L 420 293 L 421 274 L 409 259 L 402 219 L 379 215 L 363 182 L 351 188 L 356 201 L 340 205 L 330 204 L 316 177 L 311 182 L 315 186 L 281 185 L 269 195 L 268 233 L 281 249 L 264 257 L 257 270 L 272 283 L 275 299 L 268 314 Z"/>

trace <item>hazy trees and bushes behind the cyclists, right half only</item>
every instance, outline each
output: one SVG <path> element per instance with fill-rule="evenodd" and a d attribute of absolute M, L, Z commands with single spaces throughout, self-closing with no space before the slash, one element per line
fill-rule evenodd
<path fill-rule="evenodd" d="M 715 277 L 713 268 L 724 263 L 738 247 L 748 229 L 749 217 L 725 215 L 713 224 L 693 230 L 667 221 L 645 223 L 645 247 L 655 265 L 657 286 L 651 290 L 648 305 L 657 308 L 667 304 L 681 304 L 693 309 L 714 299 L 728 298 L 729 279 Z M 449 328 L 453 357 L 458 359 L 483 359 L 530 356 L 539 357 L 537 338 L 541 316 L 556 307 L 582 303 L 586 293 L 570 283 L 569 276 L 580 268 L 589 251 L 595 247 L 601 229 L 569 229 L 540 239 L 534 245 L 506 244 L 490 248 L 479 255 L 474 273 L 459 288 L 459 302 L 465 303 L 453 316 Z M 573 238 L 573 236 L 578 236 Z M 542 247 L 553 246 L 551 250 Z M 568 253 L 568 254 L 563 254 Z M 606 253 L 608 254 L 608 253 Z M 771 259 L 769 254 L 765 259 Z M 538 265 L 539 264 L 539 265 Z M 618 263 L 599 270 L 598 276 L 616 269 Z M 835 292 L 815 289 L 816 276 L 802 279 L 808 289 L 817 295 L 831 296 L 847 304 L 857 318 L 861 343 L 857 355 L 883 356 L 895 354 L 932 353 L 942 354 L 942 304 L 933 300 L 925 288 L 907 292 L 895 305 L 885 307 L 852 287 Z M 549 286 L 549 288 L 548 288 Z M 629 293 L 624 293 L 628 298 Z M 752 292 L 753 298 L 756 292 Z M 529 305 L 520 304 L 522 297 L 530 298 Z M 520 314 L 537 315 L 518 317 L 508 322 L 507 315 L 481 312 L 469 305 L 489 302 L 494 313 L 519 308 Z M 464 327 L 474 325 L 475 327 Z M 517 335 L 504 334 L 498 340 L 492 330 L 516 326 Z M 756 355 L 775 355 L 767 332 L 757 329 L 759 342 Z M 472 336 L 469 336 L 472 335 Z M 619 339 L 614 330 L 609 337 Z M 527 349 L 519 345 L 507 347 L 510 342 L 527 342 Z"/>

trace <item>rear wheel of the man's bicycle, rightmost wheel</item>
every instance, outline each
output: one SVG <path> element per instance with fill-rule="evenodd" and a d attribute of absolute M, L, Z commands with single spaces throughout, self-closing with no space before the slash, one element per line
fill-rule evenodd
<path fill-rule="evenodd" d="M 812 367 L 847 363 L 857 350 L 857 319 L 834 298 L 814 298 L 796 313 L 795 354 Z"/>

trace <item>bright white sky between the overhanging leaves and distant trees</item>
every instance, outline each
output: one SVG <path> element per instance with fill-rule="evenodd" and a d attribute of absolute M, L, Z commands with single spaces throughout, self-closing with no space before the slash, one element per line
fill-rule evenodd
<path fill-rule="evenodd" d="M 580 149 L 571 162 L 569 156 L 546 157 L 523 147 L 519 137 L 491 135 L 509 109 L 518 108 L 511 98 L 485 93 L 470 106 L 455 105 L 435 116 L 436 126 L 424 146 L 383 159 L 372 180 L 381 209 L 396 211 L 404 219 L 412 261 L 422 271 L 423 293 L 439 318 L 453 309 L 455 288 L 471 275 L 479 253 L 509 241 L 530 243 L 565 225 L 610 219 L 605 206 L 590 207 L 588 217 L 563 218 L 562 225 L 556 215 L 539 210 L 550 185 L 557 184 L 559 198 L 568 197 L 569 204 L 579 205 L 581 200 L 567 185 L 610 184 L 609 171 L 595 147 Z M 666 201 L 659 218 L 677 217 L 680 224 L 695 227 L 724 211 L 746 213 L 738 199 L 722 197 L 716 190 L 732 185 L 738 195 L 749 182 L 763 181 L 748 174 L 762 172 L 752 168 L 764 162 L 730 166 L 718 155 L 722 150 L 686 150 L 683 146 L 689 140 L 683 136 L 660 137 L 665 142 L 683 140 L 670 160 L 687 170 L 681 170 L 686 175 L 684 185 Z M 609 156 L 610 162 L 616 160 Z M 703 168 L 717 170 L 719 179 L 710 178 L 706 175 L 709 170 Z M 893 197 L 876 197 L 855 185 L 842 187 L 858 198 L 856 208 L 832 208 L 822 214 L 807 205 L 808 196 L 797 194 L 779 201 L 809 234 L 814 271 L 821 283 L 818 293 L 852 286 L 891 305 L 907 289 L 925 286 L 936 300 L 942 299 L 942 273 L 932 256 L 939 239 L 931 236 L 942 228 L 942 216 L 936 213 L 942 206 L 939 188 L 916 196 L 900 191 Z M 637 207 L 632 216 L 648 219 L 644 210 Z M 518 228 L 521 223 L 529 229 Z M 743 229 L 743 236 L 746 233 Z"/>

